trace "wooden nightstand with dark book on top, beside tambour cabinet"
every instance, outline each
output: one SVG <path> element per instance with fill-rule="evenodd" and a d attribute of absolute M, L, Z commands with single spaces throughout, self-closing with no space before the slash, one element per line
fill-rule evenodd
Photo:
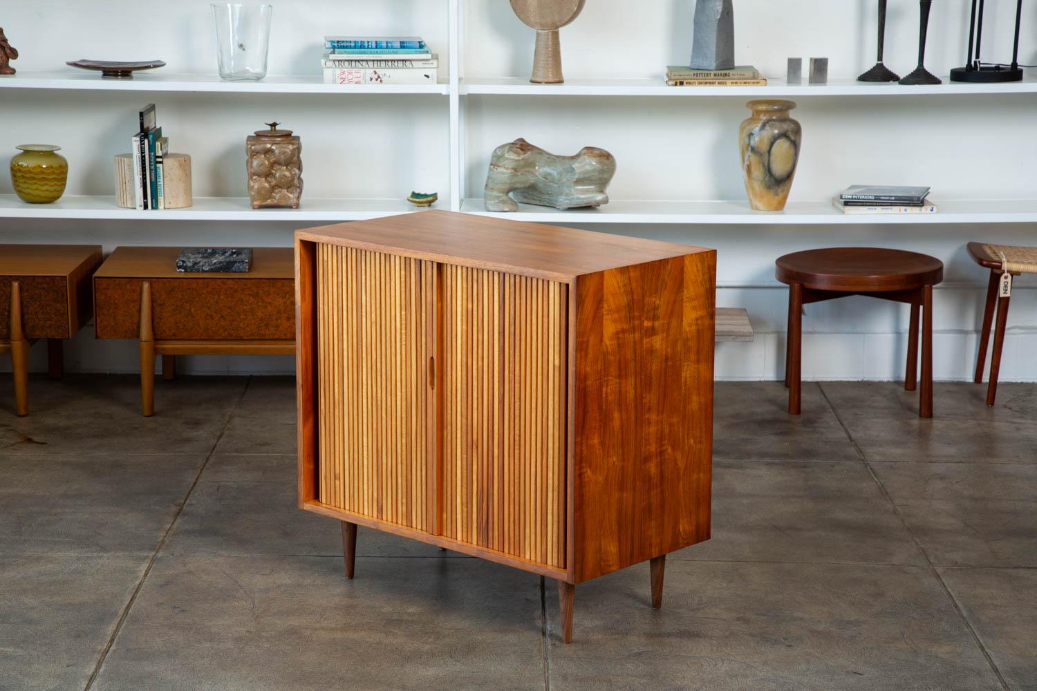
<path fill-rule="evenodd" d="M 244 273 L 176 270 L 183 248 L 116 248 L 93 275 L 99 339 L 139 339 L 141 412 L 155 414 L 155 357 L 296 352 L 290 248 L 256 248 Z"/>

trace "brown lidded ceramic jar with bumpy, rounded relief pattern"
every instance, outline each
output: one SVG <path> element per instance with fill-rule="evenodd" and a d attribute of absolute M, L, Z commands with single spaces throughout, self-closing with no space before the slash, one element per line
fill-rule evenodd
<path fill-rule="evenodd" d="M 252 208 L 299 208 L 303 197 L 303 144 L 290 129 L 268 122 L 246 141 Z"/>

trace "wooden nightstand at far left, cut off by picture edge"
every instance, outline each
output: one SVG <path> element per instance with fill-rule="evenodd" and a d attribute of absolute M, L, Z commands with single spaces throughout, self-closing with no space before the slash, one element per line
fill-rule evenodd
<path fill-rule="evenodd" d="M 51 376 L 61 376 L 61 341 L 90 320 L 101 256 L 100 246 L 0 244 L 0 352 L 10 353 L 18 414 L 29 412 L 29 346 L 47 339 Z"/>

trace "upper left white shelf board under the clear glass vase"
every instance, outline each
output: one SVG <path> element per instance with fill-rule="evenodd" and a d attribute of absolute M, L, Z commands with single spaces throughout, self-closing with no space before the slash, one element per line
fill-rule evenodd
<path fill-rule="evenodd" d="M 103 79 L 99 71 L 68 67 L 53 71 L 19 70 L 0 77 L 0 88 L 73 89 L 87 91 L 174 91 L 213 93 L 438 93 L 450 90 L 439 84 L 338 86 L 325 84 L 321 75 L 270 75 L 258 82 L 225 82 L 218 75 L 174 75 L 160 69 L 137 73 L 133 79 Z"/>

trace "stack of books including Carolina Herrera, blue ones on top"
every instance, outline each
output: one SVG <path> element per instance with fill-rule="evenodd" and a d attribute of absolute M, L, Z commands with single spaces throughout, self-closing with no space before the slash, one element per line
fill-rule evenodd
<path fill-rule="evenodd" d="M 436 84 L 439 58 L 420 36 L 325 36 L 325 84 Z"/>

